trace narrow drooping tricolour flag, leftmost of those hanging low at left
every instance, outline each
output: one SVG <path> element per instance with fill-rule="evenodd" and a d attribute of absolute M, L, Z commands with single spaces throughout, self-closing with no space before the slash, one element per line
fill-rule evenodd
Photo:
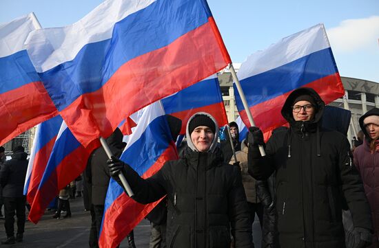
<path fill-rule="evenodd" d="M 62 117 L 57 115 L 37 126 L 23 189 L 28 203 L 33 202 L 37 193 L 62 121 Z"/>

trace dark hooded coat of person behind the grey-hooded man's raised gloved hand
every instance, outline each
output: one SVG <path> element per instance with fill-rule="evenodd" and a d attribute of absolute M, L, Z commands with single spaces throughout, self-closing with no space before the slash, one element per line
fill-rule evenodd
<path fill-rule="evenodd" d="M 125 145 L 123 144 L 123 134 L 119 128 L 106 139 L 106 142 L 112 151 L 112 154 L 116 157 L 120 157 Z M 87 180 L 92 183 L 93 205 L 104 205 L 105 202 L 105 196 L 110 182 L 107 160 L 108 157 L 104 148 L 100 147 L 92 152 L 87 162 L 87 166 L 90 166 L 91 171 L 91 173 L 87 175 L 90 177 Z"/>

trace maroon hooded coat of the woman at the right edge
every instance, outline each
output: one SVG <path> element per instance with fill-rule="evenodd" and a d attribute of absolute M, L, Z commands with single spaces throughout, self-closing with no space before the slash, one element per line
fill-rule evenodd
<path fill-rule="evenodd" d="M 379 152 L 371 153 L 369 148 L 369 135 L 363 124 L 365 117 L 369 115 L 379 115 L 379 109 L 371 109 L 365 115 L 360 117 L 360 127 L 365 133 L 365 140 L 361 146 L 354 150 L 354 164 L 360 172 L 363 186 L 365 188 L 367 199 L 371 207 L 371 215 L 373 220 L 373 228 L 376 239 L 379 238 Z"/>

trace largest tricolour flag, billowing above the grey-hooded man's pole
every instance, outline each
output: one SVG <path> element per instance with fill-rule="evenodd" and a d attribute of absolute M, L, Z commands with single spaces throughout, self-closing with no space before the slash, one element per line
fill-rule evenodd
<path fill-rule="evenodd" d="M 32 32 L 26 46 L 84 146 L 230 63 L 205 0 L 107 0 L 70 26 Z"/>

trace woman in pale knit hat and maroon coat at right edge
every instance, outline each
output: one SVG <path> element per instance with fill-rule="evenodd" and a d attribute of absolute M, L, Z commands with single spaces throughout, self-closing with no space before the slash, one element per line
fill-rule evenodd
<path fill-rule="evenodd" d="M 379 247 L 379 109 L 373 108 L 359 118 L 365 134 L 363 144 L 354 150 L 354 164 L 360 172 L 371 207 L 373 242 L 371 248 Z"/>

